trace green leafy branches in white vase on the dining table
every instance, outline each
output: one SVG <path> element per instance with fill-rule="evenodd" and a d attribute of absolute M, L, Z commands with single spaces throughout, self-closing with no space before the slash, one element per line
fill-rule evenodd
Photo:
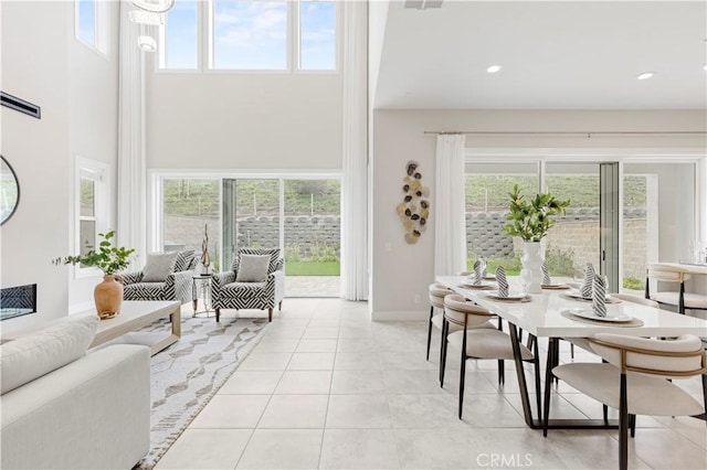
<path fill-rule="evenodd" d="M 539 193 L 530 201 L 520 194 L 518 185 L 514 185 L 510 196 L 509 221 L 504 231 L 511 236 L 519 236 L 526 242 L 540 242 L 556 221 L 555 215 L 564 214 L 570 201 L 558 201 L 549 193 Z"/>

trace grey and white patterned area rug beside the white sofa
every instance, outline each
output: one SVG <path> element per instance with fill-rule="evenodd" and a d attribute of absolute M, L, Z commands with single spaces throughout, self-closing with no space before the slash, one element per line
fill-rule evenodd
<path fill-rule="evenodd" d="M 181 339 L 151 359 L 150 451 L 134 470 L 155 467 L 257 344 L 267 324 L 266 319 L 182 319 Z M 163 320 L 140 331 L 168 328 Z"/>

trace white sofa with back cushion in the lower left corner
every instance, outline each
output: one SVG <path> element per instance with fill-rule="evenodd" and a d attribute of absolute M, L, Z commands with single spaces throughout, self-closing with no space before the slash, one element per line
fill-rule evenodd
<path fill-rule="evenodd" d="M 0 468 L 130 469 L 149 451 L 149 349 L 86 353 L 97 322 L 67 317 L 0 346 Z"/>

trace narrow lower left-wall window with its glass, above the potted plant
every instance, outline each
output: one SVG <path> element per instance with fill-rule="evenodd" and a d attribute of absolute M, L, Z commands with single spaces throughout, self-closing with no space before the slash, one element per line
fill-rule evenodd
<path fill-rule="evenodd" d="M 76 157 L 75 252 L 82 256 L 96 247 L 97 234 L 108 229 L 108 177 L 105 163 Z M 78 270 L 93 268 L 78 266 Z"/>

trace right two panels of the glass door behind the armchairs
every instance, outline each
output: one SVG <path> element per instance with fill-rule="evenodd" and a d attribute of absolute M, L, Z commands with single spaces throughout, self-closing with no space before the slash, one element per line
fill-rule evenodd
<path fill-rule="evenodd" d="M 222 184 L 228 266 L 241 247 L 279 247 L 288 297 L 339 297 L 338 179 L 239 178 Z"/>

